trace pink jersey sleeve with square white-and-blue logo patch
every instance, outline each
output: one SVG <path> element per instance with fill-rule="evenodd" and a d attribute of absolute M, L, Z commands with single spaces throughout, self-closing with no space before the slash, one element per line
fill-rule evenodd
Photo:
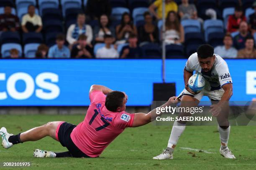
<path fill-rule="evenodd" d="M 130 114 L 127 112 L 120 112 L 117 117 L 115 117 L 115 127 L 120 129 L 125 129 L 128 127 L 132 127 L 134 114 Z"/>

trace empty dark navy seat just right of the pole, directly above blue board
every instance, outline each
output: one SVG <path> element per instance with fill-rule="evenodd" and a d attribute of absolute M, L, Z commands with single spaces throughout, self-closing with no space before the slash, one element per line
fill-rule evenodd
<path fill-rule="evenodd" d="M 166 58 L 184 58 L 184 47 L 183 45 L 166 45 Z"/>

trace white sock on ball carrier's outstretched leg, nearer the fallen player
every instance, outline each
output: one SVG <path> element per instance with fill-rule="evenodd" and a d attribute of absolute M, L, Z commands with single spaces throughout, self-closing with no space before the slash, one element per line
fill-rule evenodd
<path fill-rule="evenodd" d="M 172 126 L 171 136 L 169 138 L 168 145 L 165 151 L 166 153 L 170 153 L 170 154 L 173 153 L 174 147 L 176 146 L 179 140 L 179 137 L 181 136 L 185 128 L 186 128 L 186 124 L 182 124 L 177 121 L 174 122 Z"/>

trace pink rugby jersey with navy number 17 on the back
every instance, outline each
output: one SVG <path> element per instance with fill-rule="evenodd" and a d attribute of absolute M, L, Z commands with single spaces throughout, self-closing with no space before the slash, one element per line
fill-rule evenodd
<path fill-rule="evenodd" d="M 91 104 L 84 121 L 70 135 L 77 148 L 90 157 L 98 157 L 125 128 L 133 125 L 134 114 L 107 110 L 105 99 L 101 91 L 90 93 Z"/>

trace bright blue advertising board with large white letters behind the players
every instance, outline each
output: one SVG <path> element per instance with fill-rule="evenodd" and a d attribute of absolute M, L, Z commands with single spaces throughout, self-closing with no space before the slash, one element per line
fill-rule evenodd
<path fill-rule="evenodd" d="M 185 62 L 166 60 L 166 82 L 176 83 L 177 95 Z M 231 100 L 256 97 L 256 60 L 227 63 Z M 125 91 L 128 106 L 147 106 L 154 82 L 161 82 L 161 60 L 0 60 L 0 106 L 87 106 L 92 84 Z"/>

